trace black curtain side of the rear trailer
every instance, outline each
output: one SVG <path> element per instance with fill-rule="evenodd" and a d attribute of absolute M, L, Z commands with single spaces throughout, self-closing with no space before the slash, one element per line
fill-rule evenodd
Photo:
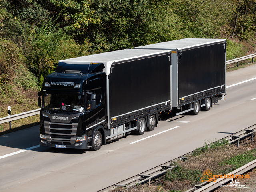
<path fill-rule="evenodd" d="M 179 51 L 179 105 L 225 92 L 226 42 Z"/>

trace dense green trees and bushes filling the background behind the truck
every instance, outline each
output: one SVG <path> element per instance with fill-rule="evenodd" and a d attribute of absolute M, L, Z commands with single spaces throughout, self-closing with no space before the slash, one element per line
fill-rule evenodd
<path fill-rule="evenodd" d="M 180 38 L 255 46 L 255 13 L 255 0 L 0 0 L 0 84 L 20 63 L 41 85 L 58 60 Z M 228 58 L 245 52 L 228 40 Z"/>

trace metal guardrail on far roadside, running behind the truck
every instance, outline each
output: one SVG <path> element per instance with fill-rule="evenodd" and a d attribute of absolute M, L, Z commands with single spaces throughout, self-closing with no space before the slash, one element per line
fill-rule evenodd
<path fill-rule="evenodd" d="M 252 62 L 253 62 L 254 57 L 256 57 L 256 53 L 247 55 L 244 57 L 228 60 L 228 61 L 226 61 L 226 64 L 228 65 L 228 64 L 237 62 L 237 66 L 238 66 L 239 61 L 252 58 Z M 32 110 L 32 111 L 28 111 L 28 112 L 24 112 L 24 113 L 20 113 L 20 114 L 16 114 L 16 115 L 7 116 L 4 118 L 0 118 L 0 124 L 11 122 L 11 121 L 22 119 L 22 118 L 26 118 L 26 117 L 30 117 L 30 116 L 34 116 L 34 115 L 38 115 L 39 113 L 40 113 L 40 109 L 36 109 L 36 110 Z"/>

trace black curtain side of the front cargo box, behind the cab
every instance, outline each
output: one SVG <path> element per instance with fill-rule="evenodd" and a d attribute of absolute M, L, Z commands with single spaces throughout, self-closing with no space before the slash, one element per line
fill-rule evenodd
<path fill-rule="evenodd" d="M 170 109 L 170 64 L 170 53 L 112 64 L 112 126 Z"/>

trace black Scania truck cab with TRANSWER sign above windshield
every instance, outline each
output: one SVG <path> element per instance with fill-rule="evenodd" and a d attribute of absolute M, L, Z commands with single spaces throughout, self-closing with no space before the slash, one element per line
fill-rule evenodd
<path fill-rule="evenodd" d="M 54 148 L 98 150 L 106 126 L 104 64 L 59 62 L 56 72 L 44 79 L 38 96 L 40 145 Z M 90 129 L 98 126 L 97 134 Z M 95 129 L 94 129 L 95 130 Z M 92 137 L 96 141 L 92 143 Z"/>

